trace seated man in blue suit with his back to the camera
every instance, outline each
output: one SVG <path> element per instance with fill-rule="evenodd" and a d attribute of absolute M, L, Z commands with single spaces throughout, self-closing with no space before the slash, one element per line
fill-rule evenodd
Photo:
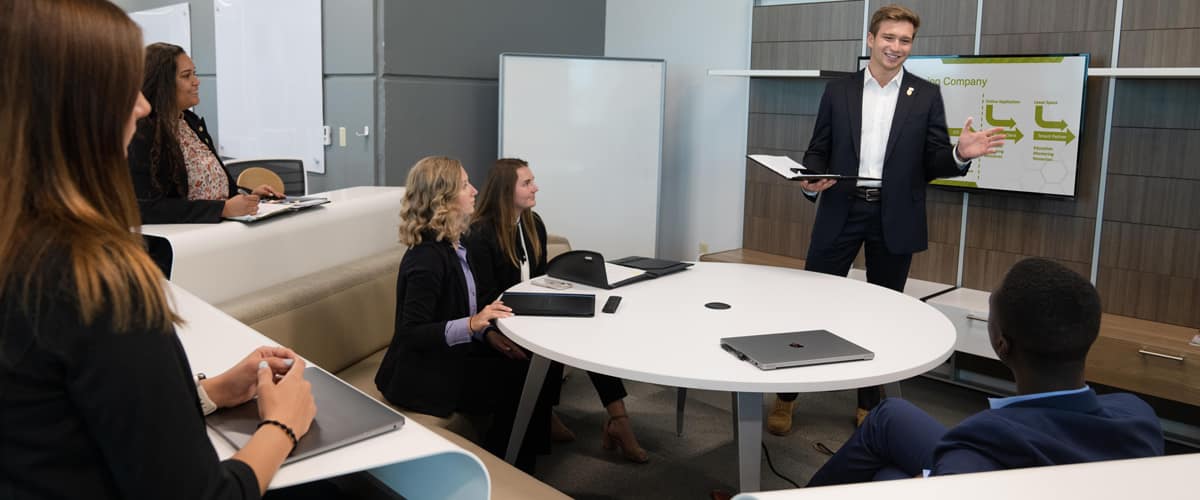
<path fill-rule="evenodd" d="M 1154 410 L 1133 394 L 1097 396 L 1084 379 L 1100 331 L 1096 287 L 1062 264 L 1025 259 L 989 299 L 988 338 L 1016 396 L 947 429 L 884 399 L 809 486 L 983 472 L 1163 454 Z"/>

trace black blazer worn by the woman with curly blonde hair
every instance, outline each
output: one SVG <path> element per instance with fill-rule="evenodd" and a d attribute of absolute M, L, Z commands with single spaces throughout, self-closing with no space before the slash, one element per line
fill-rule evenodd
<path fill-rule="evenodd" d="M 376 373 L 379 392 L 407 409 L 450 415 L 468 382 L 466 365 L 474 342 L 446 345 L 445 326 L 469 315 L 458 255 L 449 242 L 426 233 L 400 263 L 396 333 Z"/>

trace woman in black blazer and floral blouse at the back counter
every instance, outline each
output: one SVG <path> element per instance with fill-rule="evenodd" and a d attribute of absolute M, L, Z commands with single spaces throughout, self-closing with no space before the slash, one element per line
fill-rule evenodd
<path fill-rule="evenodd" d="M 200 103 L 199 90 L 196 65 L 181 47 L 146 47 L 142 94 L 152 109 L 138 121 L 128 151 L 133 191 L 146 224 L 221 222 L 257 213 L 259 197 L 282 195 L 266 185 L 238 194 L 204 119 L 187 109 Z"/>

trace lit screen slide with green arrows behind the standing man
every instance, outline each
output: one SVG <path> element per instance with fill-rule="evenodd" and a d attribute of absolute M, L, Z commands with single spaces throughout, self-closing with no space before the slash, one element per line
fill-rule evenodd
<path fill-rule="evenodd" d="M 910 58 L 906 71 L 942 89 L 950 141 L 958 141 L 967 116 L 974 118 L 972 129 L 1002 127 L 1008 138 L 1002 149 L 976 159 L 967 175 L 934 183 L 1075 195 L 1087 59 L 1086 54 Z"/>

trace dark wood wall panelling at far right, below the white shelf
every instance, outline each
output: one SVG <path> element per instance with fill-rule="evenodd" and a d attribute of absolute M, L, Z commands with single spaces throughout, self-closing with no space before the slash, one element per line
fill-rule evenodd
<path fill-rule="evenodd" d="M 1200 24 L 1200 19 L 1192 23 Z M 1195 162 L 1200 80 L 1118 80 L 1116 89 L 1097 276 L 1104 308 L 1200 326 L 1200 168 Z"/>

